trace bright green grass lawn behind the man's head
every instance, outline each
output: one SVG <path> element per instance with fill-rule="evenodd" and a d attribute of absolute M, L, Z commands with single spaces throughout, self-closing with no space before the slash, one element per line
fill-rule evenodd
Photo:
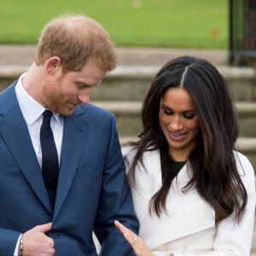
<path fill-rule="evenodd" d="M 228 0 L 9 0 L 0 8 L 0 43 L 36 44 L 64 13 L 99 21 L 118 46 L 226 49 Z"/>

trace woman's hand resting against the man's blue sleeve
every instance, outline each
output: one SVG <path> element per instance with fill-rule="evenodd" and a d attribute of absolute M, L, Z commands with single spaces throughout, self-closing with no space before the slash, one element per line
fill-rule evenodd
<path fill-rule="evenodd" d="M 137 256 L 154 256 L 154 254 L 150 251 L 150 249 L 140 236 L 134 234 L 131 230 L 127 229 L 123 224 L 120 224 L 118 220 L 115 220 L 114 224 L 123 234 L 125 240 L 131 244 L 131 247 Z"/>

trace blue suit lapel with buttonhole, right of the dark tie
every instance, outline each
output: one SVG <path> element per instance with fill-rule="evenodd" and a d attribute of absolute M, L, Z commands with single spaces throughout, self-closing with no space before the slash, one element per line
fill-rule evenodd
<path fill-rule="evenodd" d="M 67 197 L 77 171 L 80 154 L 84 148 L 84 137 L 88 129 L 88 122 L 81 118 L 84 115 L 81 108 L 75 108 L 72 115 L 64 119 L 64 131 L 61 148 L 61 166 L 55 201 L 54 219 Z"/>

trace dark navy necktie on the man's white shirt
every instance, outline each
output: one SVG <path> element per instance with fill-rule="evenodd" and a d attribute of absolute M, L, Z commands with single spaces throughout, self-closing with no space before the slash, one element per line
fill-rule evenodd
<path fill-rule="evenodd" d="M 49 195 L 49 201 L 54 209 L 55 195 L 59 176 L 59 160 L 55 140 L 50 128 L 52 112 L 45 110 L 43 123 L 40 130 L 40 143 L 42 148 L 42 174 Z"/>

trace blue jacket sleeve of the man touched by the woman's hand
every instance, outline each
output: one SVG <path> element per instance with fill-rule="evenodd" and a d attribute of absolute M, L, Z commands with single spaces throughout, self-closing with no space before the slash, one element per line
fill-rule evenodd
<path fill-rule="evenodd" d="M 133 210 L 131 192 L 125 177 L 125 164 L 113 117 L 111 137 L 102 177 L 102 191 L 96 216 L 95 234 L 101 243 L 101 254 L 134 255 L 113 221 L 118 219 L 126 227 L 138 231 L 137 217 Z"/>

